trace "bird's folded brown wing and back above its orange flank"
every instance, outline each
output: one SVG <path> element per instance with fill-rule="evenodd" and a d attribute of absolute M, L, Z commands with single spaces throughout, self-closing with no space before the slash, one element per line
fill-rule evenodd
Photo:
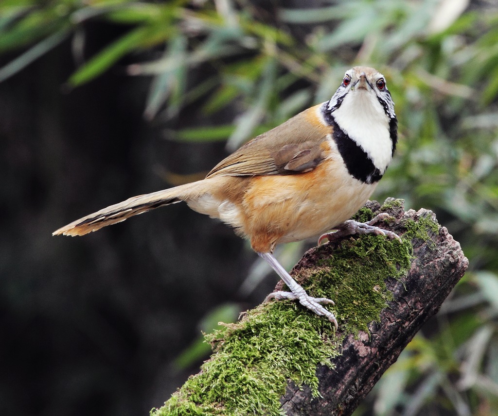
<path fill-rule="evenodd" d="M 325 158 L 323 146 L 332 128 L 311 107 L 263 133 L 216 165 L 206 177 L 255 176 L 305 172 Z"/>

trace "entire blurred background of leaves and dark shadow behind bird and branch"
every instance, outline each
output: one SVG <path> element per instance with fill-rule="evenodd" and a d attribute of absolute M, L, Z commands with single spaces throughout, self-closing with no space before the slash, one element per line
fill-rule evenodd
<path fill-rule="evenodd" d="M 358 64 L 399 119 L 373 197 L 435 211 L 470 268 L 355 415 L 497 415 L 496 0 L 2 0 L 2 415 L 146 415 L 196 373 L 277 281 L 246 242 L 184 204 L 52 231 L 202 178 Z"/>

